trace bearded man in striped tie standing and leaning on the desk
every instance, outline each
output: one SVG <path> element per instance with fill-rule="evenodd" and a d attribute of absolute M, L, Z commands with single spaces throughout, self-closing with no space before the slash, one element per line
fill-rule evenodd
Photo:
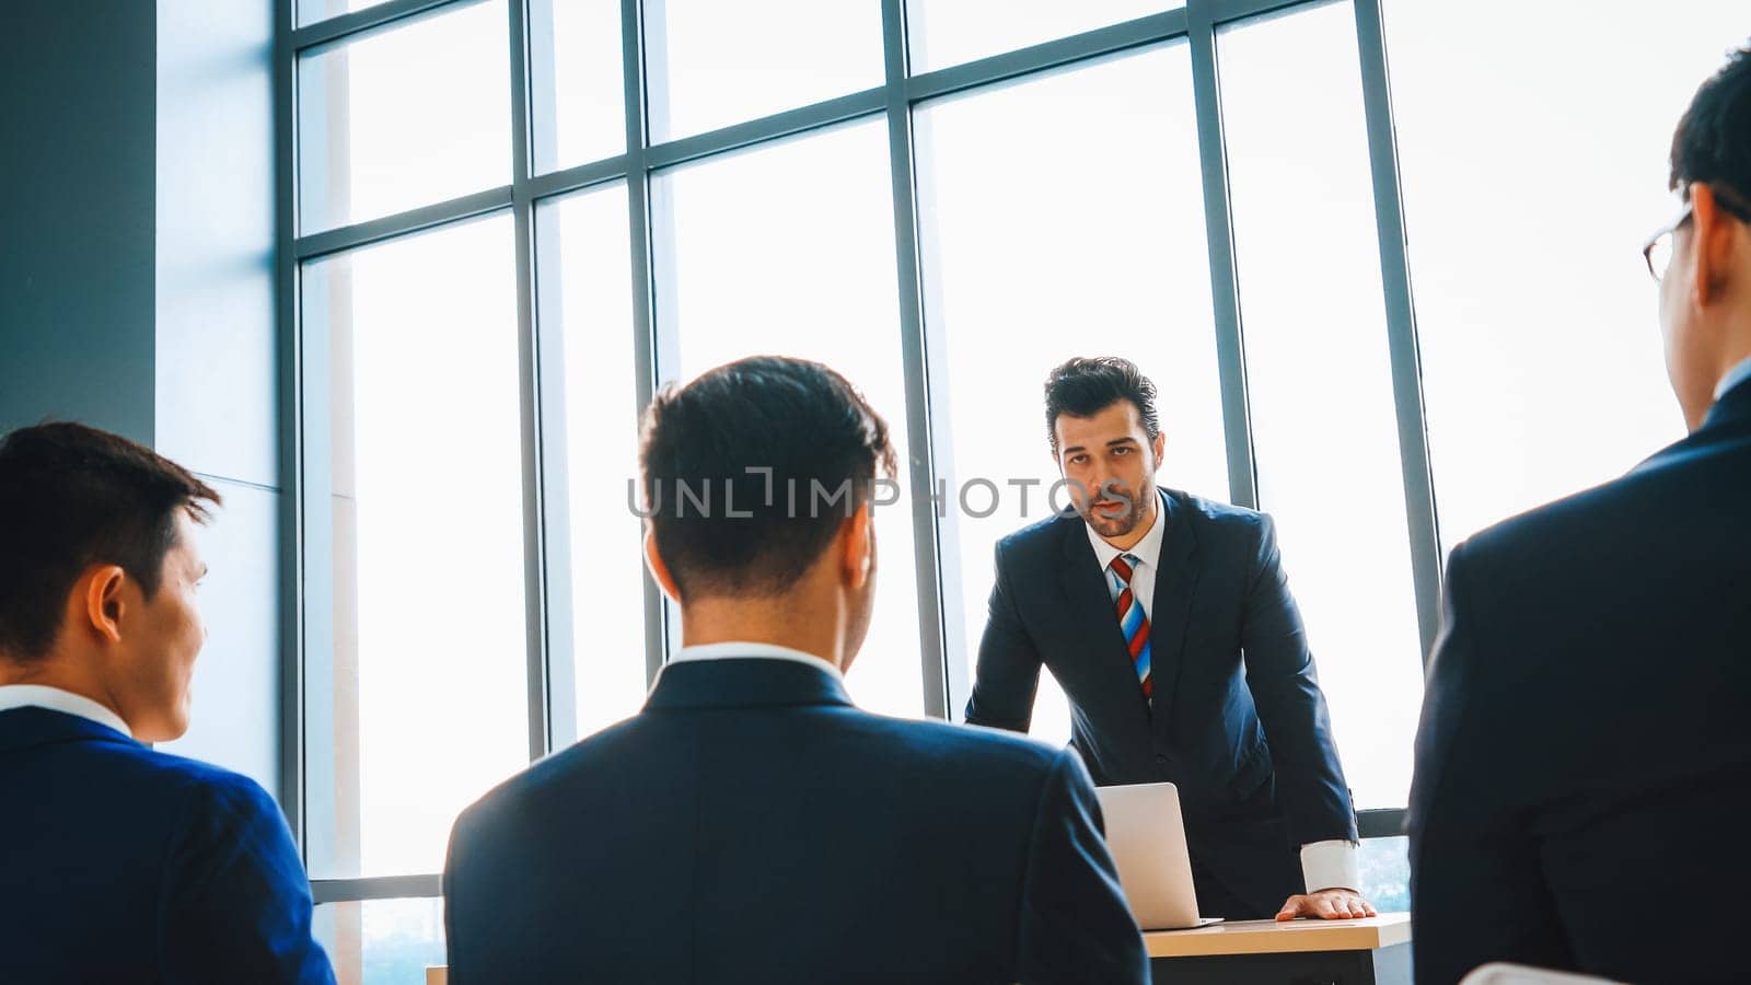
<path fill-rule="evenodd" d="M 1077 512 L 996 545 L 967 720 L 1026 731 L 1044 664 L 1096 783 L 1178 785 L 1206 917 L 1373 917 L 1271 519 L 1156 487 L 1156 387 L 1126 359 L 1052 370 L 1045 428 Z"/>

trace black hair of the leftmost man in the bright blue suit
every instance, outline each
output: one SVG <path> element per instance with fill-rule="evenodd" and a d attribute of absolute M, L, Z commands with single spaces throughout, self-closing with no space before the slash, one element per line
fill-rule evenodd
<path fill-rule="evenodd" d="M 93 564 L 119 564 L 151 599 L 177 512 L 205 522 L 219 494 L 186 468 L 84 424 L 0 440 L 0 657 L 47 655 L 67 592 Z"/>

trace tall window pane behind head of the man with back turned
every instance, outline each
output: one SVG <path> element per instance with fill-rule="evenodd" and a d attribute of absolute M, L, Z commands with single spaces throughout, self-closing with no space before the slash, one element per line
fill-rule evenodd
<path fill-rule="evenodd" d="M 804 182 L 807 195 L 786 193 Z M 672 237 L 658 315 L 679 344 L 678 377 L 753 354 L 818 359 L 886 417 L 904 463 L 886 128 L 860 123 L 678 168 L 655 195 L 669 223 L 658 235 Z M 925 712 L 911 517 L 909 494 L 876 508 L 876 617 L 846 680 L 860 705 L 893 715 Z"/>

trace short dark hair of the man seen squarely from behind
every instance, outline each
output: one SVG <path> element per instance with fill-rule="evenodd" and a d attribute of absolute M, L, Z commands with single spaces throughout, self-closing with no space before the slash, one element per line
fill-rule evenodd
<path fill-rule="evenodd" d="M 639 470 L 681 598 L 749 598 L 797 584 L 877 475 L 893 478 L 895 452 L 844 377 L 753 356 L 664 387 L 644 412 Z"/>

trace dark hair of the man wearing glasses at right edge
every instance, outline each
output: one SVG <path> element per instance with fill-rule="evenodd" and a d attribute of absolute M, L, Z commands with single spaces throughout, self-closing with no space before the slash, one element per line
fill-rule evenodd
<path fill-rule="evenodd" d="M 1691 182 L 1723 184 L 1730 212 L 1751 210 L 1751 42 L 1733 49 L 1690 100 L 1672 133 L 1676 191 Z"/>

